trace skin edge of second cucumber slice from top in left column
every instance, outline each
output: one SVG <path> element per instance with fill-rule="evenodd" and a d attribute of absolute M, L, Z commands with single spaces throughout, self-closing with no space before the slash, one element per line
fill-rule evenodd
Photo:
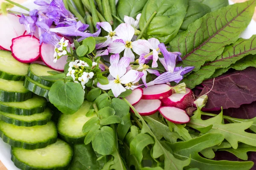
<path fill-rule="evenodd" d="M 29 91 L 28 93 L 16 93 L 0 90 L 0 101 L 1 102 L 23 102 L 27 99 L 31 99 L 33 93 Z"/>

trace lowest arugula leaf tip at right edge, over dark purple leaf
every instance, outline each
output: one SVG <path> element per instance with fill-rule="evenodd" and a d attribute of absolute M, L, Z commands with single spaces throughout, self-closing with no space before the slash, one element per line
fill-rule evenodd
<path fill-rule="evenodd" d="M 224 150 L 224 151 L 233 153 L 239 159 L 246 161 L 246 160 L 248 160 L 247 152 L 256 152 L 256 147 L 250 146 L 248 144 L 239 143 L 237 149 L 233 149 L 231 147 L 231 148 L 225 148 L 225 149 L 220 149 L 220 150 Z"/>

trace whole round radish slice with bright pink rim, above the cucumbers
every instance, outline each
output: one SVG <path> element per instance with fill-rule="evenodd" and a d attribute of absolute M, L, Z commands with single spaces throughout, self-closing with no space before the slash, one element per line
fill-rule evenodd
<path fill-rule="evenodd" d="M 12 39 L 12 56 L 20 62 L 33 62 L 40 57 L 39 47 L 40 43 L 36 37 L 22 35 Z"/>

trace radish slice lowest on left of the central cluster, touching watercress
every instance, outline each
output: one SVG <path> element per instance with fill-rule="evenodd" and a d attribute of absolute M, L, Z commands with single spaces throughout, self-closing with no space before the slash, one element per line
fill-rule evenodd
<path fill-rule="evenodd" d="M 141 116 L 148 116 L 157 112 L 161 106 L 161 101 L 158 99 L 154 100 L 143 100 L 141 99 L 134 108 Z M 133 111 L 132 111 L 133 112 Z"/>

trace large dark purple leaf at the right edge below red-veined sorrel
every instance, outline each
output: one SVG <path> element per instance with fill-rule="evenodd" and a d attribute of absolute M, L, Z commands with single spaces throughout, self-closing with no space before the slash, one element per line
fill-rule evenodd
<path fill-rule="evenodd" d="M 202 83 L 203 90 L 199 96 L 208 95 L 208 102 L 203 111 L 220 110 L 221 106 L 227 108 L 239 108 L 242 104 L 249 104 L 256 101 L 256 68 L 247 68 L 243 71 L 234 71 L 230 74 L 206 80 Z"/>

